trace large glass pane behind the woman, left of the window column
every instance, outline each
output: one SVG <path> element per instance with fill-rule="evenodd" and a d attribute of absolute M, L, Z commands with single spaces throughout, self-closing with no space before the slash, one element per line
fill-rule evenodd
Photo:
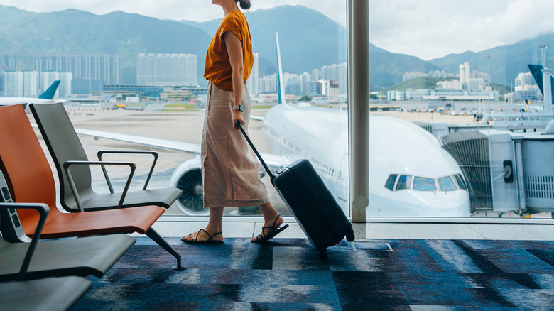
<path fill-rule="evenodd" d="M 210 1 L 200 2 L 186 10 L 159 8 L 163 4 L 157 4 L 160 10 L 151 11 L 135 6 L 133 13 L 153 17 L 148 18 L 148 29 L 158 29 L 155 36 L 148 30 L 121 32 L 109 18 L 124 19 L 129 29 L 139 29 L 143 17 L 125 13 L 129 8 L 114 4 L 114 11 L 121 10 L 117 17 L 92 11 L 80 21 L 94 25 L 86 31 L 75 28 L 67 35 L 67 29 L 58 29 L 59 33 L 49 36 L 60 40 L 32 46 L 28 46 L 29 36 L 18 29 L 41 33 L 41 24 L 33 21 L 48 16 L 67 25 L 73 21 L 64 21 L 66 16 L 60 12 L 39 12 L 44 15 L 29 20 L 18 17 L 27 11 L 6 11 L 13 16 L 2 16 L 3 20 L 16 22 L 5 31 L 10 33 L 10 43 L 0 49 L 0 96 L 36 99 L 60 80 L 55 99 L 65 102 L 75 128 L 97 131 L 80 136 L 90 160 L 96 159 L 99 150 L 155 148 L 160 157 L 148 189 L 179 187 L 184 191 L 164 215 L 207 215 L 200 165 L 208 93 L 204 69 L 207 48 L 224 13 Z M 76 2 L 61 9 L 90 8 Z M 161 15 L 174 11 L 180 13 Z M 252 41 L 253 64 L 246 83 L 251 110 L 245 114 L 251 116 L 248 130 L 254 145 L 273 173 L 299 158 L 310 160 L 349 215 L 346 1 L 302 6 L 293 0 L 252 1 L 251 9 L 242 11 Z M 97 23 L 94 18 L 107 21 Z M 282 67 L 277 65 L 276 33 Z M 75 38 L 95 44 L 78 44 Z M 278 72 L 282 72 L 282 85 Z M 281 94 L 284 104 L 279 102 Z M 104 159 L 136 161 L 131 190 L 143 188 L 151 157 L 106 155 Z M 121 191 L 128 172 L 107 170 L 115 191 Z M 260 173 L 277 212 L 290 216 L 263 168 Z M 97 192 L 109 191 L 99 168 L 93 168 L 92 183 Z M 226 207 L 226 216 L 261 215 L 255 204 L 235 205 L 241 207 Z"/>

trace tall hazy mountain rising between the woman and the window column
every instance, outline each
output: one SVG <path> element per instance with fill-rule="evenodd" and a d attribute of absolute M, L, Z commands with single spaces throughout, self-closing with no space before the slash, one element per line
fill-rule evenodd
<path fill-rule="evenodd" d="M 276 72 L 276 32 L 284 71 L 300 74 L 324 65 L 346 62 L 346 28 L 322 13 L 304 6 L 285 5 L 246 11 L 245 15 L 250 26 L 252 49 L 259 53 L 261 76 Z M 203 23 L 180 22 L 213 36 L 221 18 Z"/>

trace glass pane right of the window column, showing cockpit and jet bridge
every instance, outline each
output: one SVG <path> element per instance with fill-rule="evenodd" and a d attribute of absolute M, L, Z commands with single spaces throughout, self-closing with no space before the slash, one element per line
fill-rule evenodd
<path fill-rule="evenodd" d="M 554 28 L 519 27 L 522 15 L 507 1 L 436 4 L 369 1 L 370 127 L 378 133 L 370 133 L 369 202 L 378 206 L 367 214 L 411 204 L 393 216 L 551 219 L 554 53 L 540 35 Z M 543 14 L 539 5 L 526 9 L 530 18 Z M 482 21 L 514 31 L 504 36 Z M 413 190 L 441 191 L 409 199 L 384 191 L 395 172 L 422 176 Z"/>

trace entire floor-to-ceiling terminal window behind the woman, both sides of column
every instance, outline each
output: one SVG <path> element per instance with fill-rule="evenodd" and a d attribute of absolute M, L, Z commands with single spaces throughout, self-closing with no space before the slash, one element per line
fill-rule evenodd
<path fill-rule="evenodd" d="M 305 1 L 306 7 L 297 6 L 298 1 L 283 2 L 291 5 L 264 4 L 262 8 L 253 1 L 245 13 L 249 21 L 267 20 L 284 28 L 278 33 L 278 68 L 277 38 L 274 30 L 268 30 L 276 25 L 251 25 L 254 64 L 247 82 L 249 133 L 273 171 L 298 158 L 310 159 L 349 215 L 347 1 L 325 1 L 325 5 Z M 546 131 L 554 116 L 548 109 L 550 98 L 543 96 L 543 85 L 538 83 L 549 81 L 542 75 L 544 69 L 554 68 L 554 47 L 547 48 L 548 42 L 541 41 L 545 39 L 525 27 L 514 27 L 517 36 L 506 37 L 488 28 L 495 23 L 483 26 L 482 21 L 491 16 L 513 16 L 502 15 L 504 6 L 475 11 L 462 0 L 451 3 L 457 8 L 455 13 L 439 14 L 425 1 L 391 0 L 386 5 L 369 1 L 371 100 L 362 103 L 371 110 L 369 204 L 378 201 L 371 200 L 373 196 L 385 194 L 379 204 L 396 206 L 406 202 L 408 192 L 397 190 L 413 189 L 428 193 L 418 192 L 408 204 L 424 207 L 433 198 L 430 192 L 440 190 L 440 195 L 455 204 L 451 214 L 438 217 L 552 218 L 554 171 L 549 169 L 548 155 L 554 152 L 554 134 Z M 273 9 L 289 11 L 290 16 L 300 12 L 305 19 L 283 24 L 274 21 Z M 214 10 L 202 23 L 191 22 L 186 26 L 191 36 L 170 49 L 160 45 L 159 54 L 132 52 L 149 50 L 148 45 L 139 46 L 149 42 L 139 32 L 129 34 L 138 36 L 126 38 L 136 46 L 122 50 L 121 55 L 102 50 L 112 43 L 98 45 L 99 51 L 83 51 L 70 40 L 60 41 L 55 54 L 20 49 L 22 55 L 0 55 L 0 97 L 21 97 L 23 92 L 23 97 L 36 99 L 50 81 L 60 80 L 55 98 L 64 102 L 75 129 L 98 134 L 80 134 L 90 160 L 99 150 L 155 148 L 160 157 L 148 189 L 181 187 L 186 194 L 164 215 L 206 216 L 200 173 L 208 92 L 203 67 L 214 26 L 221 18 L 221 11 Z M 522 20 L 510 18 L 504 21 L 516 26 Z M 180 23 L 175 31 L 183 27 Z M 420 33 L 432 36 L 423 38 Z M 162 37 L 161 43 L 171 42 Z M 521 40 L 504 42 L 508 37 Z M 531 38 L 536 40 L 523 40 Z M 156 71 L 162 67 L 183 68 L 190 75 Z M 281 103 L 285 104 L 279 104 L 278 69 L 283 74 Z M 16 89 L 26 81 L 35 87 Z M 115 140 L 114 135 L 124 138 Z M 112 155 L 104 160 L 136 162 L 131 190 L 143 187 L 151 158 Z M 501 177 L 508 168 L 511 175 Z M 102 170 L 92 170 L 94 190 L 109 192 Z M 115 190 L 121 191 L 126 172 L 107 170 Z M 268 176 L 261 180 L 278 212 L 291 216 Z M 403 214 L 376 210 L 370 206 L 366 216 L 420 215 L 413 212 L 417 209 Z M 234 215 L 257 216 L 259 212 L 256 207 L 225 209 L 226 217 Z"/>

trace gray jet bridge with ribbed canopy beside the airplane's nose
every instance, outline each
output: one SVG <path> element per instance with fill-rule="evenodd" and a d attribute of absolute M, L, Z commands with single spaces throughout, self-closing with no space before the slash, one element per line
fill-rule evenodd
<path fill-rule="evenodd" d="M 465 173 L 472 213 L 554 212 L 553 132 L 484 129 L 442 136 L 443 148 Z"/>

